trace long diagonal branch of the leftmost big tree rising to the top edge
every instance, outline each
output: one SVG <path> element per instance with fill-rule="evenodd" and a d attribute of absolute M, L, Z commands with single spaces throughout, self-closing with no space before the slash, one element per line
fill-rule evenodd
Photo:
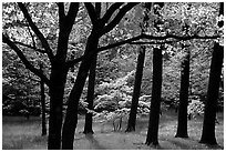
<path fill-rule="evenodd" d="M 22 2 L 18 2 L 19 8 L 21 9 L 21 11 L 23 12 L 24 18 L 27 19 L 27 21 L 29 22 L 29 26 L 31 27 L 31 29 L 33 30 L 33 32 L 37 34 L 37 37 L 40 39 L 42 47 L 47 50 L 48 57 L 50 59 L 50 62 L 53 61 L 53 53 L 52 50 L 47 41 L 47 39 L 44 38 L 44 36 L 41 33 L 41 31 L 39 30 L 39 28 L 34 24 L 34 22 L 32 21 L 27 8 L 24 7 L 24 4 Z"/>

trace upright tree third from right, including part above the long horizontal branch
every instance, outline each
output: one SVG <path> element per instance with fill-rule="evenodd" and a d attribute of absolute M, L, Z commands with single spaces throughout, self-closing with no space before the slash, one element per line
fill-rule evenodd
<path fill-rule="evenodd" d="M 154 3 L 154 14 L 157 17 L 154 20 L 154 27 L 160 32 L 160 24 L 162 14 L 160 10 L 164 7 L 163 2 Z M 146 135 L 146 144 L 158 144 L 158 123 L 160 123 L 160 112 L 161 112 L 161 94 L 162 94 L 162 73 L 163 73 L 163 44 L 160 48 L 153 48 L 153 84 L 152 84 L 152 99 L 150 107 L 150 121 L 148 130 Z"/>

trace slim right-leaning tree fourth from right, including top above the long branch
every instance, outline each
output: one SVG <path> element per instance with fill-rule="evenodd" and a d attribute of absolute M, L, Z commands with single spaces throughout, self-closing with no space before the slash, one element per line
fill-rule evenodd
<path fill-rule="evenodd" d="M 144 6 L 145 11 L 144 11 L 144 17 L 143 17 L 143 23 L 141 23 L 142 33 L 147 31 L 147 28 L 148 28 L 148 12 L 151 11 L 151 4 L 152 3 L 146 2 Z M 135 83 L 134 83 L 133 98 L 132 98 L 132 104 L 131 104 L 131 111 L 130 111 L 130 118 L 127 122 L 126 132 L 135 131 L 136 111 L 137 111 L 138 98 L 140 98 L 140 92 L 141 92 L 145 50 L 146 50 L 145 45 L 141 45 L 138 48 Z"/>

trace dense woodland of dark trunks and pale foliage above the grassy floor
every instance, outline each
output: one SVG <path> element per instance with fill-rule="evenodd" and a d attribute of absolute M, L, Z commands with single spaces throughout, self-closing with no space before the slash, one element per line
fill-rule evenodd
<path fill-rule="evenodd" d="M 132 132 L 146 115 L 145 143 L 157 145 L 160 116 L 174 110 L 175 136 L 204 115 L 199 142 L 217 144 L 223 16 L 223 2 L 2 3 L 3 115 L 40 115 L 48 149 L 73 149 L 79 114 L 85 134 L 123 116 Z"/>

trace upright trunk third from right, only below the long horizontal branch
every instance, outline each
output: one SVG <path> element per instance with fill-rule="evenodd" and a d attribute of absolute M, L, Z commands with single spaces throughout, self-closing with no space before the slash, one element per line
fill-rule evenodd
<path fill-rule="evenodd" d="M 161 109 L 161 90 L 162 90 L 162 49 L 154 48 L 153 50 L 153 87 L 152 101 L 150 111 L 148 131 L 146 136 L 146 144 L 158 144 L 158 123 Z"/>

